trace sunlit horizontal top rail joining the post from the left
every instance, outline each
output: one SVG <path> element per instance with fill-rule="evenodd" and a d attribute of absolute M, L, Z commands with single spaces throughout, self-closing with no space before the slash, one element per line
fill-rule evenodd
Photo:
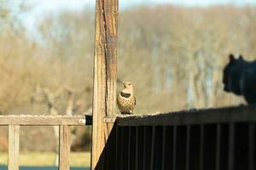
<path fill-rule="evenodd" d="M 91 125 L 91 116 L 32 116 L 32 115 L 9 115 L 0 116 L 1 125 L 21 125 L 21 126 L 58 126 Z"/>

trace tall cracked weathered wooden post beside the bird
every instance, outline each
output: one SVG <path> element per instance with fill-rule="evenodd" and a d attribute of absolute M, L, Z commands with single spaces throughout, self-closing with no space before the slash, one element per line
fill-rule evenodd
<path fill-rule="evenodd" d="M 109 120 L 115 117 L 117 16 L 118 0 L 96 0 L 92 170 L 106 169 L 102 151 L 113 127 Z"/>

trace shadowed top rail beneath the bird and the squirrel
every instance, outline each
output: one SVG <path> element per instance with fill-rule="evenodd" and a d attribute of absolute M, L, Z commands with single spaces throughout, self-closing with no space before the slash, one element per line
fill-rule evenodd
<path fill-rule="evenodd" d="M 172 126 L 256 122 L 256 105 L 117 117 L 118 126 Z"/>

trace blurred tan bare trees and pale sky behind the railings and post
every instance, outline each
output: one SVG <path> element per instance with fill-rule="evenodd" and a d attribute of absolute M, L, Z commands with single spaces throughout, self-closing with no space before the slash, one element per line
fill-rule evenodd
<path fill-rule="evenodd" d="M 94 17 L 93 0 L 0 1 L 1 114 L 90 113 Z M 255 0 L 119 0 L 118 78 L 135 86 L 135 113 L 244 103 L 222 71 L 230 53 L 256 59 L 255 30 Z M 73 128 L 72 150 L 90 149 L 89 132 Z M 24 152 L 55 151 L 52 127 L 20 135 Z"/>

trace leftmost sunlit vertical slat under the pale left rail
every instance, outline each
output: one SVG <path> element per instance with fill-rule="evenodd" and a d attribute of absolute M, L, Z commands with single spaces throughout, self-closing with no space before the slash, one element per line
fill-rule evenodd
<path fill-rule="evenodd" d="M 20 125 L 9 125 L 8 169 L 19 170 Z"/>

